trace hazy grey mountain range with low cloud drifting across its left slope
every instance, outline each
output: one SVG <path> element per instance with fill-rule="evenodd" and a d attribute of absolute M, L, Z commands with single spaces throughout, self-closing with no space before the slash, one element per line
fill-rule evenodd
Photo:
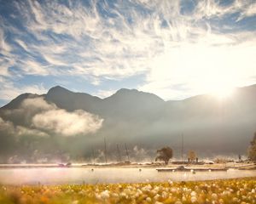
<path fill-rule="evenodd" d="M 57 86 L 21 94 L 0 109 L 0 155 L 88 156 L 107 138 L 113 155 L 117 143 L 127 143 L 134 157 L 153 156 L 164 145 L 178 157 L 182 134 L 185 150 L 200 156 L 246 154 L 256 131 L 255 101 L 256 85 L 236 88 L 227 99 L 204 94 L 177 101 L 126 88 L 100 99 Z"/>

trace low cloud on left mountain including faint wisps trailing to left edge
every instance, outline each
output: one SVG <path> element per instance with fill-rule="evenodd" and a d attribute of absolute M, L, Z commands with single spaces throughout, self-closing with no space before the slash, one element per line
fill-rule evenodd
<path fill-rule="evenodd" d="M 17 126 L 11 122 L 4 122 L 0 118 L 0 127 L 9 129 L 17 135 L 30 134 L 60 136 L 76 136 L 96 133 L 101 127 L 103 119 L 89 112 L 76 110 L 68 112 L 50 104 L 43 97 L 24 99 L 20 107 L 14 110 L 3 111 L 3 115 L 11 118 L 23 118 L 28 127 Z"/>

